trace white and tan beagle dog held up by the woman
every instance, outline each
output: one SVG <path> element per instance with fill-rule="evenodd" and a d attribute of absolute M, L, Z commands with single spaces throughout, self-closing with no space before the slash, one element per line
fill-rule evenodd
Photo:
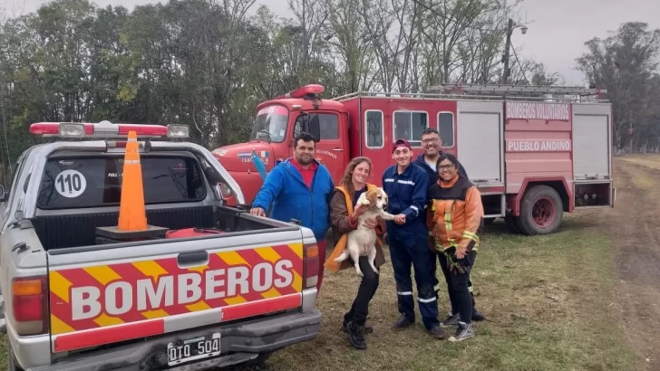
<path fill-rule="evenodd" d="M 354 262 L 357 275 L 363 277 L 364 273 L 360 270 L 359 258 L 360 256 L 367 256 L 369 265 L 378 274 L 378 270 L 374 266 L 374 260 L 376 258 L 376 231 L 373 228 L 365 226 L 364 221 L 375 219 L 377 216 L 380 216 L 383 220 L 393 220 L 394 215 L 385 211 L 387 208 L 387 194 L 380 187 L 375 187 L 364 192 L 357 199 L 356 205 L 369 205 L 369 207 L 364 214 L 359 216 L 357 228 L 348 233 L 346 248 L 335 259 L 335 262 L 344 262 L 350 256 Z"/>

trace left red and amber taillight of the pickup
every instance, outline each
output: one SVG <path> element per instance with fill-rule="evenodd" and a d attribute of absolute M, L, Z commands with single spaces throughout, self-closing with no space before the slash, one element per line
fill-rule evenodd
<path fill-rule="evenodd" d="M 12 281 L 14 327 L 18 335 L 48 332 L 46 277 L 21 277 Z"/>

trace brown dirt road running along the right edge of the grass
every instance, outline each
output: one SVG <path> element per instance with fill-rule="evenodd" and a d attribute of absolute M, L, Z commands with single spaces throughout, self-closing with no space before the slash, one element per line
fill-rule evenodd
<path fill-rule="evenodd" d="M 612 307 L 645 369 L 660 370 L 660 156 L 616 158 L 614 170 L 616 205 L 598 218 L 615 249 Z"/>

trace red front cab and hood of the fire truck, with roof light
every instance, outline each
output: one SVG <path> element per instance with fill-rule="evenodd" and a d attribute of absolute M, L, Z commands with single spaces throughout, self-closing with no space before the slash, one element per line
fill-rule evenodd
<path fill-rule="evenodd" d="M 263 185 L 253 164 L 258 157 L 270 171 L 293 156 L 294 138 L 306 131 L 317 140 L 316 160 L 327 166 L 333 179 L 343 176 L 350 160 L 349 117 L 345 105 L 318 96 L 325 88 L 311 84 L 267 100 L 257 106 L 257 117 L 246 143 L 218 147 L 212 153 L 236 179 L 248 205 Z M 227 186 L 222 186 L 228 205 L 238 205 Z"/>

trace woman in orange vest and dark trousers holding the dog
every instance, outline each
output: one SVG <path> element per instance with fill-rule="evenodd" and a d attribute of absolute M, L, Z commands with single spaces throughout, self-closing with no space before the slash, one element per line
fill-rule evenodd
<path fill-rule="evenodd" d="M 366 205 L 355 207 L 357 199 L 366 190 L 375 187 L 366 183 L 366 178 L 371 172 L 371 161 L 367 157 L 355 157 L 346 167 L 344 177 L 335 187 L 335 193 L 330 201 L 330 224 L 333 230 L 335 249 L 325 261 L 325 268 L 335 273 L 346 268 L 353 268 L 354 262 L 349 258 L 344 262 L 335 262 L 335 258 L 344 252 L 346 247 L 347 233 L 357 227 L 357 218 L 364 213 Z M 374 228 L 378 236 L 383 236 L 385 231 L 383 221 L 367 220 L 368 226 Z M 374 265 L 377 269 L 385 262 L 382 242 L 380 238 L 376 243 L 376 258 Z M 344 315 L 342 330 L 348 333 L 351 345 L 357 349 L 365 349 L 365 333 L 371 333 L 373 328 L 366 325 L 366 316 L 369 311 L 369 302 L 378 289 L 378 274 L 372 270 L 366 257 L 360 257 L 360 269 L 364 277 L 360 282 L 357 295 L 351 309 Z"/>

